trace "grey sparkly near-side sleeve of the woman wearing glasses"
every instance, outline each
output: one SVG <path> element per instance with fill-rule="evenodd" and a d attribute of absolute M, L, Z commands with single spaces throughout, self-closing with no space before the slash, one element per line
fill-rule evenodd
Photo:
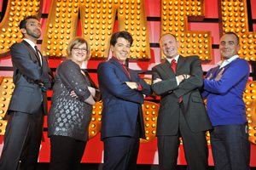
<path fill-rule="evenodd" d="M 84 101 L 90 97 L 87 82 L 81 73 L 79 65 L 73 61 L 67 60 L 62 62 L 57 68 L 56 74 L 60 77 L 61 82 L 74 91 L 75 94 Z"/>

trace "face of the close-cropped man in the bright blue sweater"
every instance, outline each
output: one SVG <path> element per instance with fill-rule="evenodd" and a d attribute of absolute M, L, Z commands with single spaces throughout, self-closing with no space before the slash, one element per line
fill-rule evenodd
<path fill-rule="evenodd" d="M 230 59 L 241 48 L 238 39 L 233 34 L 225 34 L 219 40 L 219 53 L 223 59 Z"/>

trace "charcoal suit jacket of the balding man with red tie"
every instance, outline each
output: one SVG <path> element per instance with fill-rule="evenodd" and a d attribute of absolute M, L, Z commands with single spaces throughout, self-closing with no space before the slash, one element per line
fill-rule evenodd
<path fill-rule="evenodd" d="M 160 95 L 160 111 L 157 119 L 156 135 L 175 135 L 178 129 L 179 98 L 185 107 L 184 117 L 190 129 L 195 132 L 212 128 L 199 88 L 203 85 L 203 71 L 198 56 L 183 57 L 177 60 L 177 76 L 189 74 L 191 77 L 177 86 L 176 75 L 170 63 L 156 65 L 152 69 L 152 81 L 156 78 L 162 82 L 152 84 L 152 90 Z"/>

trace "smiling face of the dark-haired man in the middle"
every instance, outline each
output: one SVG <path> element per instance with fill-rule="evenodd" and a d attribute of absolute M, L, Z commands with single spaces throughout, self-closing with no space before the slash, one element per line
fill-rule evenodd
<path fill-rule="evenodd" d="M 125 59 L 130 55 L 131 43 L 123 37 L 117 38 L 115 45 L 111 45 L 110 49 L 113 52 L 113 57 L 119 59 L 125 64 Z"/>

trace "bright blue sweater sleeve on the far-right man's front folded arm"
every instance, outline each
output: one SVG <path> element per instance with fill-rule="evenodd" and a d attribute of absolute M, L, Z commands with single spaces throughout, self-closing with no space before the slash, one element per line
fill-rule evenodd
<path fill-rule="evenodd" d="M 234 63 L 233 63 L 234 62 Z M 225 94 L 230 88 L 249 75 L 249 65 L 245 59 L 241 62 L 232 61 L 230 67 L 224 70 L 223 76 L 218 81 L 204 80 L 204 89 L 214 94 Z M 214 79 L 214 78 L 212 78 Z"/>

